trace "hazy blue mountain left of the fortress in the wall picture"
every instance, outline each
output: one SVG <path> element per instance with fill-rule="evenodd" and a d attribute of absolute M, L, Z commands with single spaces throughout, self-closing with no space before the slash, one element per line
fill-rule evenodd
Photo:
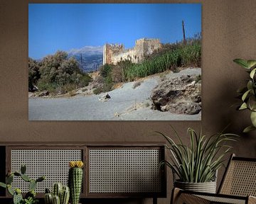
<path fill-rule="evenodd" d="M 85 72 L 92 72 L 99 69 L 103 63 L 103 47 L 85 46 L 80 49 L 72 49 L 68 51 L 68 57 L 75 57 L 81 69 Z"/>

